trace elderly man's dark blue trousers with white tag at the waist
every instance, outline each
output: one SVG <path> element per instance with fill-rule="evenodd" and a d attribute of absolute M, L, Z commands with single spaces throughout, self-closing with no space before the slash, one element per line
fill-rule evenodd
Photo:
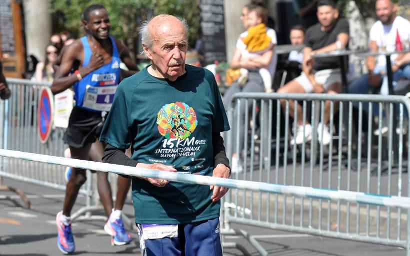
<path fill-rule="evenodd" d="M 222 256 L 219 218 L 189 224 L 136 226 L 142 256 Z"/>

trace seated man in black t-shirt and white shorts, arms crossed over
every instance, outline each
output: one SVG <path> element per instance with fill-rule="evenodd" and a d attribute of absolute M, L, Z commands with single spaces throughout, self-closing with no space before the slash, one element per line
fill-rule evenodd
<path fill-rule="evenodd" d="M 345 47 L 349 38 L 349 25 L 343 18 L 338 18 L 339 12 L 332 0 L 317 2 L 317 18 L 319 23 L 309 27 L 306 31 L 303 49 L 302 73 L 292 81 L 278 89 L 278 93 L 339 93 L 341 91 L 340 64 L 338 57 L 312 58 L 316 53 L 329 52 Z M 289 101 L 289 115 L 293 117 L 294 102 Z M 281 100 L 282 107 L 286 101 Z M 309 123 L 303 124 L 301 107 L 297 107 L 297 128 L 291 144 L 302 144 L 303 139 L 311 139 L 312 127 Z M 330 102 L 324 106 L 324 120 L 317 127 L 318 140 L 323 145 L 330 142 L 327 123 L 329 121 Z M 323 130 L 323 133 L 322 133 Z M 303 136 L 304 134 L 304 136 Z"/>

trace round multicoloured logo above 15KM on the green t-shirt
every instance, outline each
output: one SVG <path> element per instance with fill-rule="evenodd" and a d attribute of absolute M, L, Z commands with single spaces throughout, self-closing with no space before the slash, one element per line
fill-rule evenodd
<path fill-rule="evenodd" d="M 197 122 L 193 108 L 178 101 L 162 106 L 156 118 L 159 133 L 167 139 L 188 138 Z"/>

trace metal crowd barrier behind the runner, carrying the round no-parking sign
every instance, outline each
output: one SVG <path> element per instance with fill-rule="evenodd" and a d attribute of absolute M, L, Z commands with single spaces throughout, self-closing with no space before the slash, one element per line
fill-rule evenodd
<path fill-rule="evenodd" d="M 64 156 L 68 145 L 64 144 L 63 128 L 54 128 L 46 141 L 42 144 L 38 137 L 37 111 L 40 89 L 51 86 L 49 82 L 36 82 L 26 79 L 6 78 L 11 90 L 8 100 L 0 101 L 0 147 L 2 149 L 24 151 L 30 153 Z M 64 166 L 51 166 L 40 162 L 27 162 L 21 159 L 6 159 L 0 162 L 0 190 L 14 191 L 30 207 L 30 202 L 18 189 L 2 186 L 1 178 L 14 180 L 65 190 Z M 109 175 L 112 194 L 116 195 L 116 175 Z M 16 190 L 16 191 L 15 191 Z M 81 187 L 79 194 L 85 196 L 85 207 L 72 214 L 73 220 L 105 220 L 105 216 L 92 215 L 92 211 L 102 210 L 96 189 L 96 179 L 87 172 L 87 181 Z M 61 206 L 62 207 L 62 206 Z M 132 221 L 124 218 L 129 228 L 134 228 Z"/>

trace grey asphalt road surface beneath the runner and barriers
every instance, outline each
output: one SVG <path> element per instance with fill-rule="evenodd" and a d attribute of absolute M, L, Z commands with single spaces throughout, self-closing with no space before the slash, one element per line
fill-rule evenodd
<path fill-rule="evenodd" d="M 4 179 L 4 185 L 22 190 L 31 201 L 32 209 L 22 206 L 22 201 L 13 193 L 0 192 L 0 255 L 1 256 L 58 256 L 56 246 L 55 215 L 62 207 L 64 192 Z M 8 196 L 8 198 L 5 198 Z M 84 206 L 80 196 L 74 211 Z M 94 213 L 96 215 L 102 212 Z M 132 218 L 133 208 L 125 205 L 124 214 Z M 137 236 L 126 246 L 110 245 L 110 237 L 103 231 L 101 220 L 79 221 L 72 225 L 76 251 L 73 255 L 104 256 L 119 254 L 138 256 Z M 403 256 L 405 251 L 396 247 L 358 243 L 262 229 L 251 226 L 232 225 L 253 235 L 270 256 Z M 225 242 L 236 242 L 244 246 L 252 256 L 257 252 L 239 236 L 225 236 Z M 225 256 L 242 256 L 233 248 L 224 249 Z"/>

